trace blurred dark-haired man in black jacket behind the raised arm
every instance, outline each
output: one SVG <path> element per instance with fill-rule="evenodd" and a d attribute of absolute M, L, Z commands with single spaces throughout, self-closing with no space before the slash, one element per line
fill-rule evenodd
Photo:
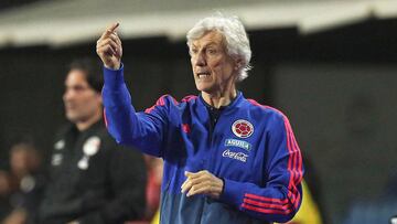
<path fill-rule="evenodd" d="M 146 167 L 118 146 L 103 121 L 98 65 L 71 64 L 63 102 L 69 124 L 55 137 L 40 224 L 118 224 L 144 215 Z"/>

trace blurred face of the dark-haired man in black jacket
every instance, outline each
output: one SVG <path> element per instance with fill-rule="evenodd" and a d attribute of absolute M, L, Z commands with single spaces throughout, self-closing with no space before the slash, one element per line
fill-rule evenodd
<path fill-rule="evenodd" d="M 72 70 L 65 79 L 63 95 L 66 118 L 72 122 L 84 122 L 101 110 L 101 97 L 87 83 L 85 72 Z"/>

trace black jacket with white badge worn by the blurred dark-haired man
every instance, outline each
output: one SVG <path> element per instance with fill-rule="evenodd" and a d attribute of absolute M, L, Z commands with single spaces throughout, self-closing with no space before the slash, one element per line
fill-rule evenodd
<path fill-rule="evenodd" d="M 40 223 L 140 220 L 146 173 L 142 154 L 118 146 L 101 121 L 82 132 L 71 125 L 55 139 Z"/>

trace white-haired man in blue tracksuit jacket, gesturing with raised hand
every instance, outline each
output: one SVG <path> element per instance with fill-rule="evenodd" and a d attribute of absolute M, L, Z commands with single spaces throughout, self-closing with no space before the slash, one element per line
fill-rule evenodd
<path fill-rule="evenodd" d="M 198 96 L 162 96 L 136 113 L 124 82 L 118 23 L 97 42 L 108 130 L 164 160 L 161 223 L 287 222 L 301 199 L 302 159 L 280 111 L 246 99 L 251 51 L 237 18 L 198 21 L 187 45 Z"/>

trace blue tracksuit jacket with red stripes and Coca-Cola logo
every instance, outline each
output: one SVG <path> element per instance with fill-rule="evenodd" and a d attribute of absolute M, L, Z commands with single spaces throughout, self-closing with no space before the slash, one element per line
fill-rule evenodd
<path fill-rule="evenodd" d="M 287 222 L 302 201 L 301 153 L 280 111 L 237 98 L 214 126 L 201 96 L 162 96 L 136 113 L 119 71 L 104 68 L 106 121 L 119 142 L 164 160 L 161 223 L 258 224 Z M 186 198 L 184 171 L 207 170 L 224 180 L 219 199 Z"/>

